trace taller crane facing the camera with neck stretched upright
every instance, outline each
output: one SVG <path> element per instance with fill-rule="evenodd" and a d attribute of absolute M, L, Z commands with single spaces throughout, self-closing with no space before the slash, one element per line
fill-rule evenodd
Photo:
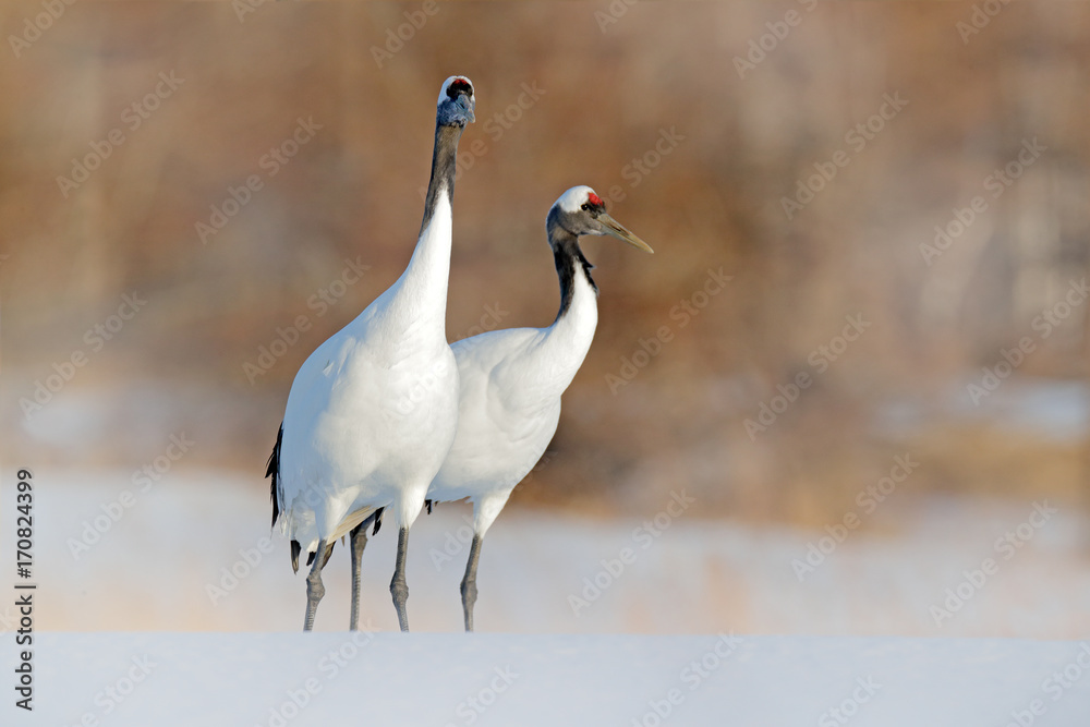
<path fill-rule="evenodd" d="M 458 141 L 473 121 L 473 84 L 443 83 L 435 116 L 432 179 L 409 267 L 352 323 L 315 349 L 288 396 L 269 458 L 272 523 L 291 541 L 291 567 L 305 550 L 306 618 L 314 627 L 325 594 L 322 568 L 337 538 L 351 534 L 352 616 L 359 623 L 359 559 L 366 525 L 383 510 L 398 528 L 390 594 L 409 630 L 409 528 L 453 441 L 458 368 L 447 344 L 451 205 Z M 377 530 L 377 526 L 376 526 Z"/>

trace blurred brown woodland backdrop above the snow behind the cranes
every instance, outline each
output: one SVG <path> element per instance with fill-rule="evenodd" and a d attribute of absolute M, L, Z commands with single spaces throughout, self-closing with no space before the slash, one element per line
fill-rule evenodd
<path fill-rule="evenodd" d="M 820 524 L 906 452 L 909 499 L 1085 497 L 1087 305 L 1046 338 L 1033 323 L 1087 275 L 1085 3 L 995 3 L 965 39 L 959 2 L 240 7 L 84 1 L 33 40 L 40 2 L 0 10 L 8 465 L 135 470 L 185 433 L 187 464 L 265 487 L 299 365 L 409 259 L 435 96 L 461 73 L 477 123 L 461 143 L 451 339 L 553 319 L 544 217 L 571 185 L 611 196 L 656 250 L 584 243 L 597 336 L 516 501 L 643 513 L 685 487 L 710 517 Z M 853 136 L 886 95 L 907 105 Z M 299 119 L 320 129 L 270 175 L 263 159 Z M 113 130 L 123 141 L 62 190 Z M 989 184 L 1033 140 L 1045 148 L 1018 179 Z M 788 219 L 783 197 L 838 150 L 847 166 Z M 203 243 L 196 225 L 254 174 L 262 187 Z M 986 209 L 928 265 L 921 244 L 977 195 Z M 354 284 L 335 282 L 346 260 L 368 266 Z M 720 267 L 722 292 L 694 298 Z M 111 320 L 134 291 L 146 304 Z M 682 301 L 705 306 L 681 315 Z M 819 371 L 812 354 L 857 315 L 870 326 Z M 308 330 L 247 376 L 300 316 Z M 664 326 L 657 355 L 638 354 Z M 974 403 L 967 386 L 1022 337 L 1034 350 Z M 751 437 L 746 420 L 799 374 L 812 386 Z"/>

